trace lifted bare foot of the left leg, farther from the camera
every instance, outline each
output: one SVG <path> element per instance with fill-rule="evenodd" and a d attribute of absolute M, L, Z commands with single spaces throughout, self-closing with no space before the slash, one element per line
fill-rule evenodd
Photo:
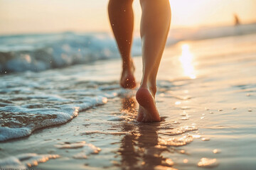
<path fill-rule="evenodd" d="M 133 89 L 136 86 L 133 63 L 131 67 L 123 67 L 120 85 L 124 89 Z"/>

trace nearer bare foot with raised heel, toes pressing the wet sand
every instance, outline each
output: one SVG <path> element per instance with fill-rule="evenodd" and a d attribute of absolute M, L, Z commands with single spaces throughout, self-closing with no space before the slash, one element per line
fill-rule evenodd
<path fill-rule="evenodd" d="M 161 118 L 156 109 L 154 96 L 151 95 L 148 89 L 139 88 L 136 94 L 136 99 L 139 103 L 139 111 L 137 121 L 139 122 L 159 122 Z"/>

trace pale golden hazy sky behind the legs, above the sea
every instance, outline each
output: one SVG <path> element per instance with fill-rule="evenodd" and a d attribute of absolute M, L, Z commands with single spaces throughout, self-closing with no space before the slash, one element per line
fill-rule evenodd
<path fill-rule="evenodd" d="M 161 1 L 161 0 L 157 0 Z M 171 28 L 256 22 L 256 0 L 169 0 Z M 111 31 L 107 0 L 0 0 L 0 34 Z M 135 30 L 141 8 L 134 0 Z"/>

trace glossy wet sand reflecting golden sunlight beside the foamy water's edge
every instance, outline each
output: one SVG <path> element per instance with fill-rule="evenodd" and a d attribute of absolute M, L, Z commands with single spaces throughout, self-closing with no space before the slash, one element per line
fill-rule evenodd
<path fill-rule="evenodd" d="M 166 49 L 156 94 L 160 123 L 137 123 L 136 90 L 127 90 L 64 125 L 1 142 L 0 158 L 60 156 L 38 169 L 255 169 L 255 40 L 245 35 Z M 141 58 L 135 63 L 139 80 Z M 117 85 L 119 60 L 97 62 L 94 72 L 96 81 L 107 74 Z"/>

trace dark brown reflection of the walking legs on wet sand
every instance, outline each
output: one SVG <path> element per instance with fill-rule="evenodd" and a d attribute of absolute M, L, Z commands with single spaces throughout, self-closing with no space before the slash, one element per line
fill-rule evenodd
<path fill-rule="evenodd" d="M 134 97 L 122 98 L 122 112 L 128 116 L 137 115 L 137 102 Z M 138 124 L 122 122 L 122 131 L 131 132 L 121 140 L 118 153 L 122 157 L 122 169 L 167 169 L 174 163 L 164 158 L 161 153 L 168 150 L 159 145 L 160 123 Z M 159 167 L 161 166 L 161 167 Z"/>

